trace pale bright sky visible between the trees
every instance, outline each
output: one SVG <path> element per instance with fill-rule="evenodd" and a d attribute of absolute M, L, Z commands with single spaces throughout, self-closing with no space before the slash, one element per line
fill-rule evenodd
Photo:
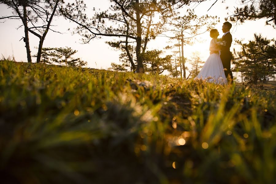
<path fill-rule="evenodd" d="M 72 0 L 65 0 L 65 2 L 72 2 Z M 221 27 L 224 22 L 224 18 L 228 17 L 228 14 L 231 14 L 234 11 L 234 7 L 239 6 L 240 0 L 226 0 L 224 3 L 218 1 L 207 12 L 207 10 L 214 2 L 215 0 L 210 0 L 200 4 L 192 4 L 191 6 L 184 7 L 179 11 L 181 13 L 185 13 L 187 8 L 189 8 L 194 9 L 197 16 L 208 14 L 220 17 L 220 23 L 215 26 L 215 29 L 218 29 L 220 36 L 222 36 L 223 33 Z M 93 7 L 96 9 L 107 10 L 110 5 L 109 0 L 85 0 L 85 3 L 87 5 L 86 10 L 88 11 L 88 14 L 92 12 Z M 226 6 L 229 7 L 228 10 L 226 10 Z M 4 5 L 0 5 L 0 16 L 6 16 L 10 14 L 10 9 L 7 9 L 7 7 Z M 24 29 L 18 28 L 20 25 L 21 21 L 19 20 L 6 20 L 5 22 L 0 22 L 0 55 L 2 54 L 5 57 L 13 55 L 16 61 L 27 62 L 25 43 L 23 40 L 19 41 L 24 36 Z M 70 23 L 69 21 L 64 20 L 62 17 L 59 17 L 53 21 L 52 25 L 55 25 L 52 27 L 52 29 L 62 32 L 63 34 L 50 31 L 46 36 L 43 47 L 71 47 L 72 49 L 78 50 L 74 56 L 80 57 L 87 61 L 87 67 L 90 68 L 107 69 L 110 67 L 112 62 L 119 63 L 119 55 L 121 52 L 116 51 L 109 47 L 108 44 L 105 44 L 105 41 L 111 41 L 113 40 L 112 38 L 109 37 L 95 39 L 91 40 L 89 44 L 81 44 L 81 36 L 77 34 L 71 35 L 71 33 L 67 30 L 68 28 L 74 28 L 74 23 Z M 230 32 L 233 36 L 233 39 L 243 39 L 244 42 L 252 40 L 254 38 L 254 33 L 261 33 L 268 39 L 275 38 L 276 35 L 276 29 L 270 25 L 265 25 L 264 19 L 246 21 L 242 25 L 233 24 Z M 36 47 L 38 47 L 39 39 L 29 33 L 29 40 L 31 54 L 34 55 L 37 52 Z M 189 59 L 193 52 L 198 51 L 200 53 L 201 59 L 205 61 L 209 56 L 209 43 L 211 40 L 209 33 L 207 32 L 198 36 L 197 40 L 201 40 L 201 42 L 196 42 L 192 46 L 184 46 L 184 56 Z M 148 50 L 162 50 L 168 45 L 167 41 L 167 38 L 157 37 L 155 40 L 151 40 L 149 42 Z M 234 41 L 232 43 L 231 50 L 233 50 L 233 48 L 238 48 L 238 46 L 234 44 Z M 32 58 L 32 60 L 35 62 L 36 58 Z M 190 68 L 189 63 L 187 63 L 186 66 Z M 189 72 L 186 73 L 189 74 Z M 238 77 L 239 74 L 234 75 Z"/>

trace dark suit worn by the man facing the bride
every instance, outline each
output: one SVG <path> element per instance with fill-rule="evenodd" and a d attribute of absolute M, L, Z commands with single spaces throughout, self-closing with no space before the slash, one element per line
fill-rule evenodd
<path fill-rule="evenodd" d="M 226 45 L 222 46 L 220 51 L 220 59 L 224 67 L 224 73 L 227 78 L 228 78 L 228 75 L 230 75 L 231 79 L 233 79 L 233 74 L 231 71 L 232 53 L 230 52 L 230 47 L 232 44 L 232 35 L 231 33 L 227 33 L 226 35 L 222 36 L 221 39 L 226 41 Z"/>

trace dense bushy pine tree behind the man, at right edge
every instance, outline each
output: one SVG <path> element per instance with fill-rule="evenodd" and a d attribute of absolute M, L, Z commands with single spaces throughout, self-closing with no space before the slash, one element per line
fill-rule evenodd
<path fill-rule="evenodd" d="M 254 40 L 242 43 L 241 51 L 236 51 L 233 60 L 234 70 L 242 72 L 247 81 L 256 83 L 258 80 L 272 77 L 276 72 L 276 40 L 266 39 L 261 35 L 254 35 Z"/>

